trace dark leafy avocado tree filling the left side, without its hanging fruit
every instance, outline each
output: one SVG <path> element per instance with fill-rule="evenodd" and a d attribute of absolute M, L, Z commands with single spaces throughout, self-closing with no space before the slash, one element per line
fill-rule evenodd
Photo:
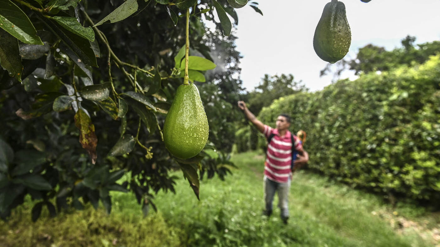
<path fill-rule="evenodd" d="M 211 157 L 204 150 L 189 160 L 171 157 L 161 126 L 182 83 L 181 17 L 191 7 L 189 79 L 209 81 L 200 86 L 202 95 L 215 92 L 211 102 L 226 108 L 207 109 L 212 128 L 205 149 L 231 146 L 231 128 L 218 127 L 223 119 L 216 115 L 231 108 L 231 95 L 240 88 L 234 79 L 239 55 L 229 17 L 217 23 L 213 11 L 227 12 L 237 23 L 233 7 L 246 3 L 0 0 L 6 20 L 0 26 L 1 218 L 27 195 L 36 201 L 33 220 L 43 207 L 55 215 L 89 202 L 95 208 L 102 203 L 110 213 L 110 191 L 132 192 L 148 211 L 156 192 L 174 192 L 171 170 L 181 169 L 197 196 L 199 176 L 223 178 L 230 172 L 233 164 L 224 154 Z M 207 29 L 202 16 L 216 30 Z M 220 49 L 226 52 L 216 63 L 227 69 L 207 73 L 219 57 L 212 51 Z"/>

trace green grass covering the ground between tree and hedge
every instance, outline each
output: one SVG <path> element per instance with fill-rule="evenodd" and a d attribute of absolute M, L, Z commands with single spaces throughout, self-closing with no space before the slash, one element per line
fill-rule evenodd
<path fill-rule="evenodd" d="M 32 205 L 26 203 L 11 221 L 0 223 L 0 246 L 434 246 L 410 228 L 390 226 L 403 215 L 438 228 L 440 220 L 423 208 L 405 204 L 392 208 L 374 195 L 303 171 L 293 176 L 289 224 L 282 224 L 278 209 L 271 218 L 263 217 L 263 156 L 249 152 L 232 159 L 238 169 L 225 181 L 217 177 L 201 181 L 200 201 L 177 172 L 181 179 L 176 195 L 159 193 L 158 212 L 151 210 L 146 218 L 136 199 L 120 192 L 113 193 L 110 215 L 88 206 L 56 218 L 44 212 L 31 223 Z M 277 203 L 275 197 L 274 206 Z"/>

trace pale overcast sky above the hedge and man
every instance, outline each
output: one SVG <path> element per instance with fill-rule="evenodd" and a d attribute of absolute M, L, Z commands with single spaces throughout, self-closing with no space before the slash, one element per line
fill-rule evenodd
<path fill-rule="evenodd" d="M 332 76 L 319 77 L 326 62 L 313 49 L 313 34 L 330 0 L 255 0 L 264 16 L 245 6 L 236 9 L 235 35 L 241 52 L 243 86 L 257 86 L 264 74 L 293 74 L 312 91 L 329 85 Z M 416 44 L 440 40 L 440 0 L 343 0 L 352 44 L 345 58 L 354 58 L 366 44 L 400 47 L 408 34 Z M 356 78 L 346 73 L 343 77 Z"/>

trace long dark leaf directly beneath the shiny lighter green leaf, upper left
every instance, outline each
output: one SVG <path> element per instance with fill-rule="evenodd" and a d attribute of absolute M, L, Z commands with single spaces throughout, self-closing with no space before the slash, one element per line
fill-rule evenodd
<path fill-rule="evenodd" d="M 92 65 L 98 67 L 96 63 L 95 52 L 91 47 L 90 41 L 87 39 L 78 36 L 76 34 L 71 33 L 69 30 L 65 29 L 57 22 L 48 19 L 40 14 L 38 14 L 40 19 L 51 29 L 52 33 L 55 33 L 59 39 L 70 49 L 76 56 L 71 56 L 69 52 L 66 52 L 67 55 L 73 60 L 75 63 L 85 63 L 88 65 Z M 79 59 L 79 60 L 78 60 Z"/>

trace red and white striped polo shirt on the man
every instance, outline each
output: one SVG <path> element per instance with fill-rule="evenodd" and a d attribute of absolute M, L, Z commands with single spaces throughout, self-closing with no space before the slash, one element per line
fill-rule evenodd
<path fill-rule="evenodd" d="M 266 151 L 266 161 L 264 162 L 264 175 L 268 179 L 278 182 L 287 183 L 290 176 L 290 165 L 292 162 L 292 139 L 290 131 L 284 136 L 279 136 L 278 129 L 272 129 L 268 125 L 264 125 L 264 136 L 268 138 L 271 133 L 271 142 L 268 143 L 268 151 Z M 302 144 L 297 136 L 293 136 L 295 149 L 301 149 Z"/>

